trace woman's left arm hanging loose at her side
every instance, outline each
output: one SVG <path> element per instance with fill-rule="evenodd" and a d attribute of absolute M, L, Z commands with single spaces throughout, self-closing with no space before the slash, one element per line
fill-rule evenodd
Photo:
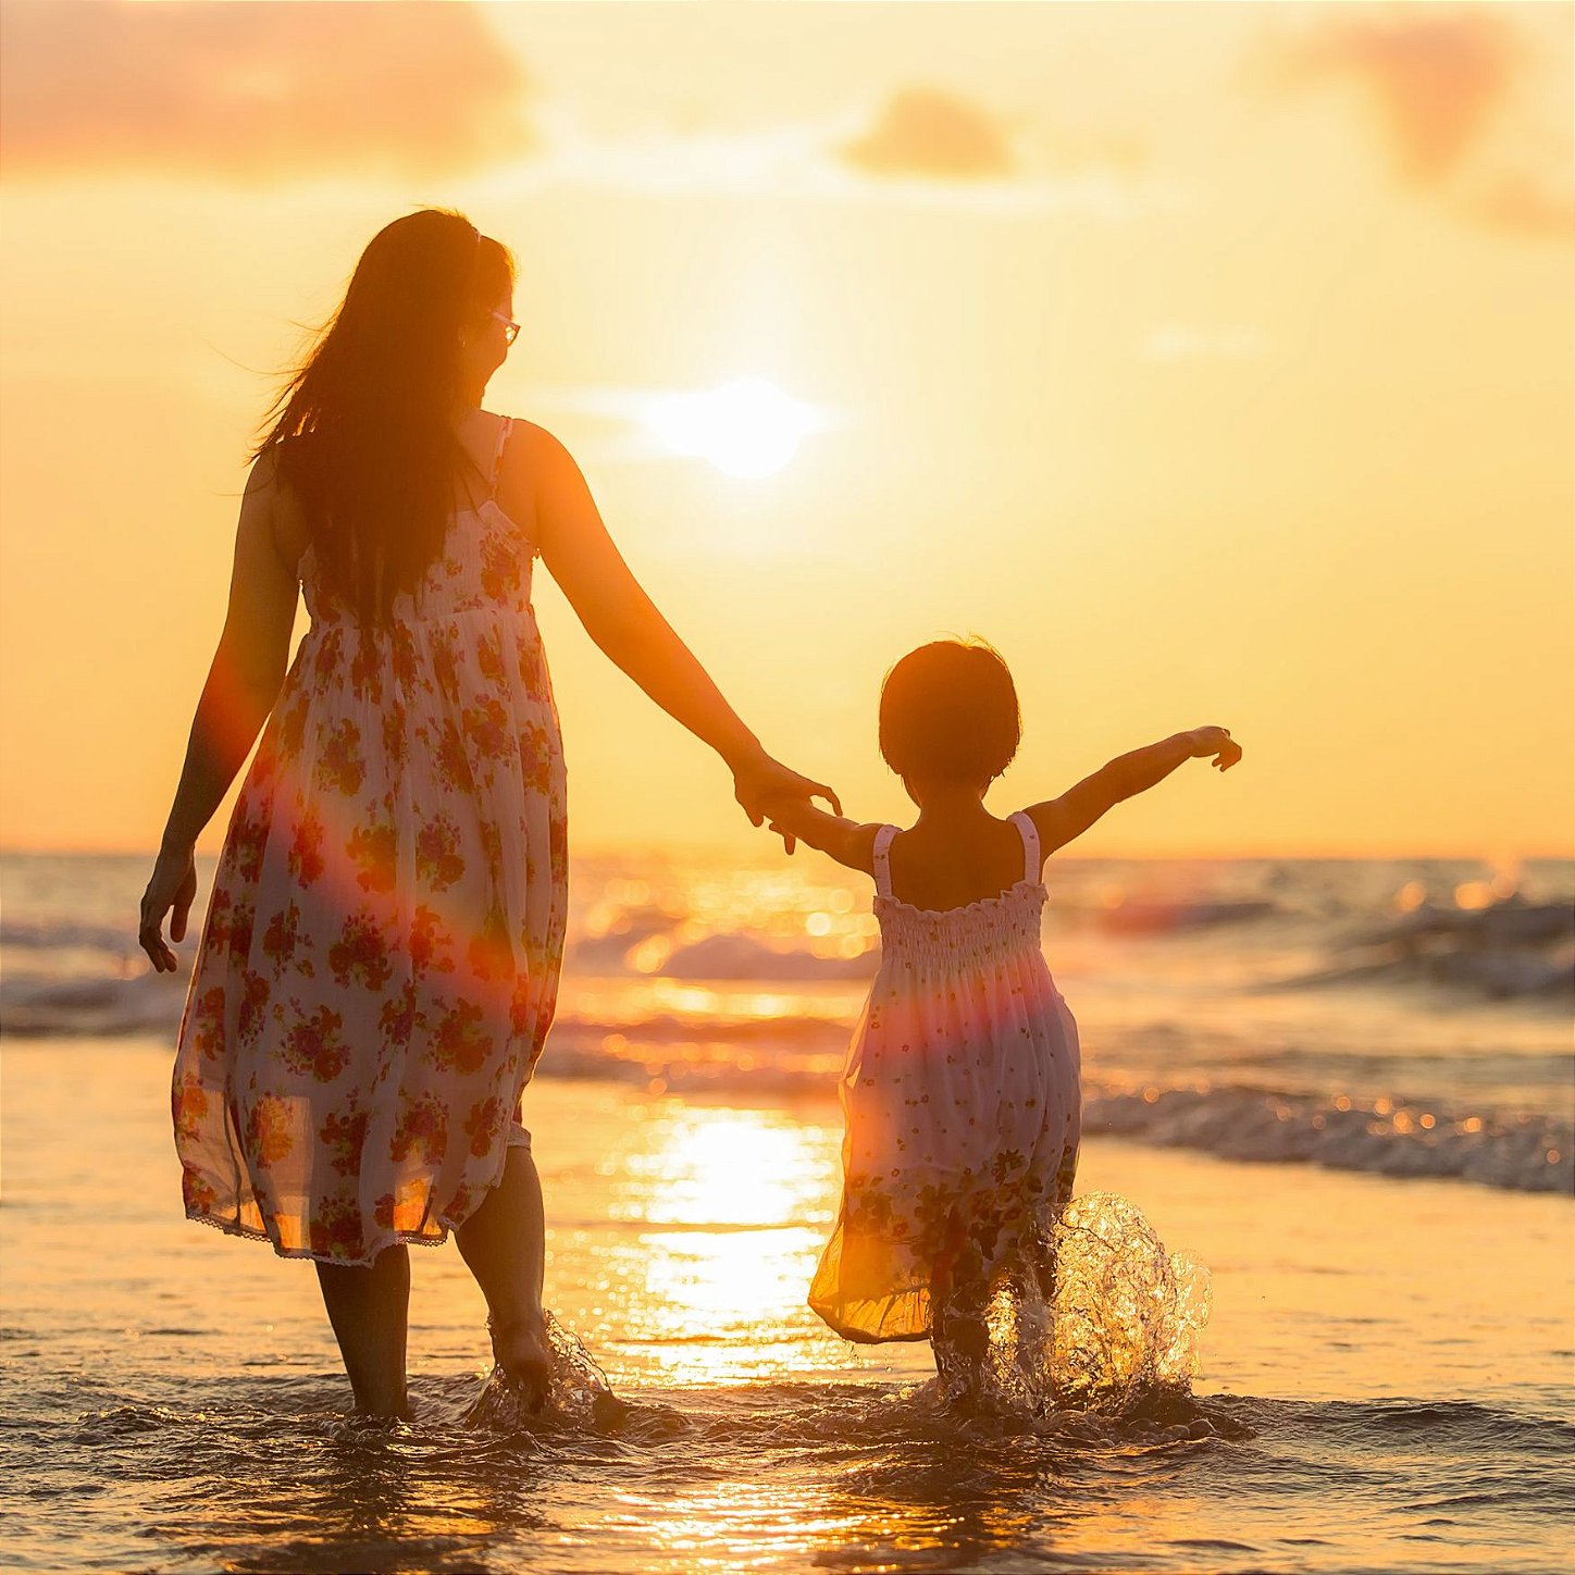
<path fill-rule="evenodd" d="M 164 917 L 170 915 L 170 936 L 184 939 L 197 896 L 197 838 L 257 742 L 285 679 L 298 587 L 276 545 L 277 507 L 274 460 L 263 455 L 241 499 L 230 608 L 197 702 L 159 857 L 142 896 L 137 939 L 159 973 L 172 973 L 176 965 L 164 940 Z"/>

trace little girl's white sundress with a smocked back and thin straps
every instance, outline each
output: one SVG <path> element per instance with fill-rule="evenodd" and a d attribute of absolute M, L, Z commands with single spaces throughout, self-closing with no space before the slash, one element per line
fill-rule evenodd
<path fill-rule="evenodd" d="M 876 833 L 880 969 L 843 1071 L 843 1203 L 810 1306 L 849 1340 L 932 1336 L 931 1287 L 989 1285 L 1051 1240 L 1077 1169 L 1077 1025 L 1040 950 L 1040 839 L 1024 877 L 953 909 L 891 895 Z"/>

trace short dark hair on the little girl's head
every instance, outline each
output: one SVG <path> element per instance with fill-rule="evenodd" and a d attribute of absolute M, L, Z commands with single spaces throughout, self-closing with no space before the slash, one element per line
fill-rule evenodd
<path fill-rule="evenodd" d="M 898 776 L 991 783 L 1021 739 L 1017 688 L 983 639 L 920 646 L 880 685 L 880 754 Z"/>

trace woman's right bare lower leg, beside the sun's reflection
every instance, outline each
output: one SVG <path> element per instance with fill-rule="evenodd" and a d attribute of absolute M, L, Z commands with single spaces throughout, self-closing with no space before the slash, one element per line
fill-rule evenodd
<path fill-rule="evenodd" d="M 529 1148 L 509 1150 L 502 1181 L 454 1236 L 487 1298 L 498 1366 L 542 1400 L 551 1370 L 542 1318 L 547 1225 L 542 1181 Z"/>

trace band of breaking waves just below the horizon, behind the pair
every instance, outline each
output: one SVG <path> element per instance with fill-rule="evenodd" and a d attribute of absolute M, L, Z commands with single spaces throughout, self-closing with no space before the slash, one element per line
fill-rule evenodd
<path fill-rule="evenodd" d="M 146 865 L 0 858 L 0 1030 L 173 1035 L 181 991 L 135 945 Z M 1085 1129 L 1575 1189 L 1575 863 L 1055 858 L 1046 879 Z M 824 1091 L 876 967 L 866 888 L 819 855 L 580 860 L 542 1074 Z"/>

